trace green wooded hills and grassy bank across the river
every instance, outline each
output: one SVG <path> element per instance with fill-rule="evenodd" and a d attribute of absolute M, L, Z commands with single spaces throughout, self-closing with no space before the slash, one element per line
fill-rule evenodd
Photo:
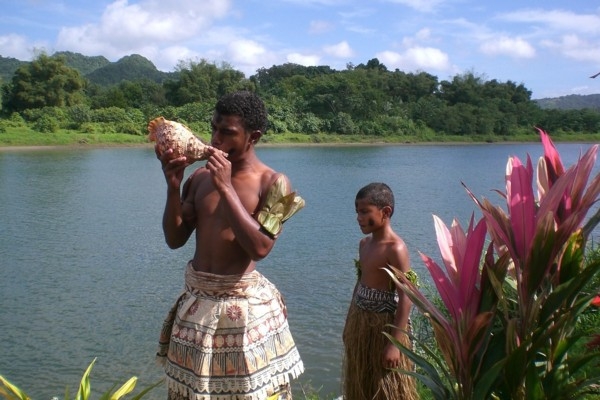
<path fill-rule="evenodd" d="M 7 61 L 16 60 L 0 57 L 0 72 L 12 67 L 0 73 L 0 149 L 150 145 L 147 125 L 158 116 L 208 141 L 216 101 L 235 90 L 255 91 L 267 105 L 260 145 L 538 142 L 535 127 L 555 142 L 600 141 L 600 100 L 546 108 L 523 83 L 473 71 L 440 80 L 388 70 L 376 58 L 344 70 L 273 65 L 250 77 L 206 60 L 182 61 L 173 73 L 141 56 Z"/>

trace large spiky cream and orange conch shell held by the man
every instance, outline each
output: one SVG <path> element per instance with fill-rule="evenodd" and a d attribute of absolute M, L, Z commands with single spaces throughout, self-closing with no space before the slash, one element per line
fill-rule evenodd
<path fill-rule="evenodd" d="M 209 156 L 207 150 L 211 146 L 203 143 L 179 122 L 158 117 L 148 123 L 148 132 L 148 139 L 156 142 L 161 153 L 173 149 L 174 157 L 185 156 L 189 162 L 206 160 Z"/>

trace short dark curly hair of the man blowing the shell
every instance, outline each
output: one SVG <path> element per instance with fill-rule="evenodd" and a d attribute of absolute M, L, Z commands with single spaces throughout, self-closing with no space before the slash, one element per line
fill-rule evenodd
<path fill-rule="evenodd" d="M 215 111 L 221 115 L 239 115 L 247 130 L 259 130 L 261 133 L 267 130 L 267 109 L 254 92 L 241 90 L 226 94 L 217 102 Z"/>

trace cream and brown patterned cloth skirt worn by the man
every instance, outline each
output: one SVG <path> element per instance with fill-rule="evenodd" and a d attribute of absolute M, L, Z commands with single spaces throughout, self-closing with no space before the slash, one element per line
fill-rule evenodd
<path fill-rule="evenodd" d="M 267 278 L 199 272 L 191 262 L 157 358 L 170 399 L 291 398 L 290 381 L 304 371 L 283 297 Z"/>

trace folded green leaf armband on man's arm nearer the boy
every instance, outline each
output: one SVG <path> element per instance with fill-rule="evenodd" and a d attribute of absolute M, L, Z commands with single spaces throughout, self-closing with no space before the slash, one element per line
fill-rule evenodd
<path fill-rule="evenodd" d="M 285 221 L 304 207 L 304 199 L 297 196 L 296 192 L 286 193 L 286 180 L 283 175 L 280 175 L 269 189 L 265 205 L 256 217 L 256 220 L 263 229 L 273 237 L 276 237 L 281 232 Z"/>

